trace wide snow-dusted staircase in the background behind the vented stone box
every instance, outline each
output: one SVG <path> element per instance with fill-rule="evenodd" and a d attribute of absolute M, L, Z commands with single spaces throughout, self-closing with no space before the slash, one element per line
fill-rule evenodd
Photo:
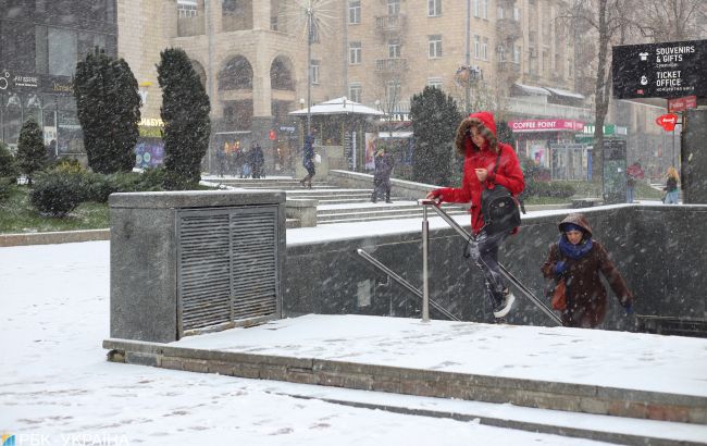
<path fill-rule="evenodd" d="M 422 207 L 417 200 L 395 195 L 393 188 L 392 203 L 379 200 L 371 202 L 372 188 L 340 188 L 326 182 L 315 181 L 312 188 L 303 188 L 296 178 L 209 178 L 228 187 L 244 189 L 281 189 L 285 190 L 287 200 L 315 200 L 317 225 L 334 223 L 370 222 L 380 220 L 421 219 Z M 420 197 L 422 198 L 422 197 Z M 461 206 L 444 205 L 451 215 L 468 213 Z M 288 214 L 287 227 L 299 227 L 296 219 Z"/>

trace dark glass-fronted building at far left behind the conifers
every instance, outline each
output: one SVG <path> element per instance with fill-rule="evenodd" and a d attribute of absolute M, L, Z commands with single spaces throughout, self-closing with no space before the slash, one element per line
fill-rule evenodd
<path fill-rule="evenodd" d="M 0 140 L 15 147 L 34 116 L 55 154 L 80 158 L 72 76 L 96 48 L 117 53 L 115 0 L 0 0 Z"/>

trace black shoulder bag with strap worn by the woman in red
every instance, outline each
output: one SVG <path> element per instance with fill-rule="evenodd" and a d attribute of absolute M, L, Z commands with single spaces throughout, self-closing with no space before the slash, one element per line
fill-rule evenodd
<path fill-rule="evenodd" d="M 494 175 L 500 164 L 500 147 L 494 166 Z M 484 188 L 481 193 L 481 215 L 484 218 L 482 231 L 487 235 L 510 232 L 520 226 L 520 207 L 525 213 L 522 201 L 519 202 L 510 191 L 497 184 L 493 189 Z"/>

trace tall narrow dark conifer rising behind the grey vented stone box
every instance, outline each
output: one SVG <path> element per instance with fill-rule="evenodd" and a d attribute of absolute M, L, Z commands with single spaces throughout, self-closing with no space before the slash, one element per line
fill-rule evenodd
<path fill-rule="evenodd" d="M 157 66 L 162 89 L 164 168 L 166 188 L 194 185 L 201 178 L 201 159 L 209 148 L 209 96 L 186 52 L 169 48 Z"/>

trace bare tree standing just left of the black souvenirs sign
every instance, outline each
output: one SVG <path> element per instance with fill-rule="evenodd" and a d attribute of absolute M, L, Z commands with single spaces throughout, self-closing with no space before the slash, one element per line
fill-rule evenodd
<path fill-rule="evenodd" d="M 596 75 L 594 77 L 594 150 L 592 176 L 604 174 L 604 122 L 611 97 L 611 45 L 624 44 L 635 25 L 634 12 L 641 7 L 636 0 L 572 0 L 559 14 L 566 27 L 586 29 L 582 45 L 595 38 Z"/>

